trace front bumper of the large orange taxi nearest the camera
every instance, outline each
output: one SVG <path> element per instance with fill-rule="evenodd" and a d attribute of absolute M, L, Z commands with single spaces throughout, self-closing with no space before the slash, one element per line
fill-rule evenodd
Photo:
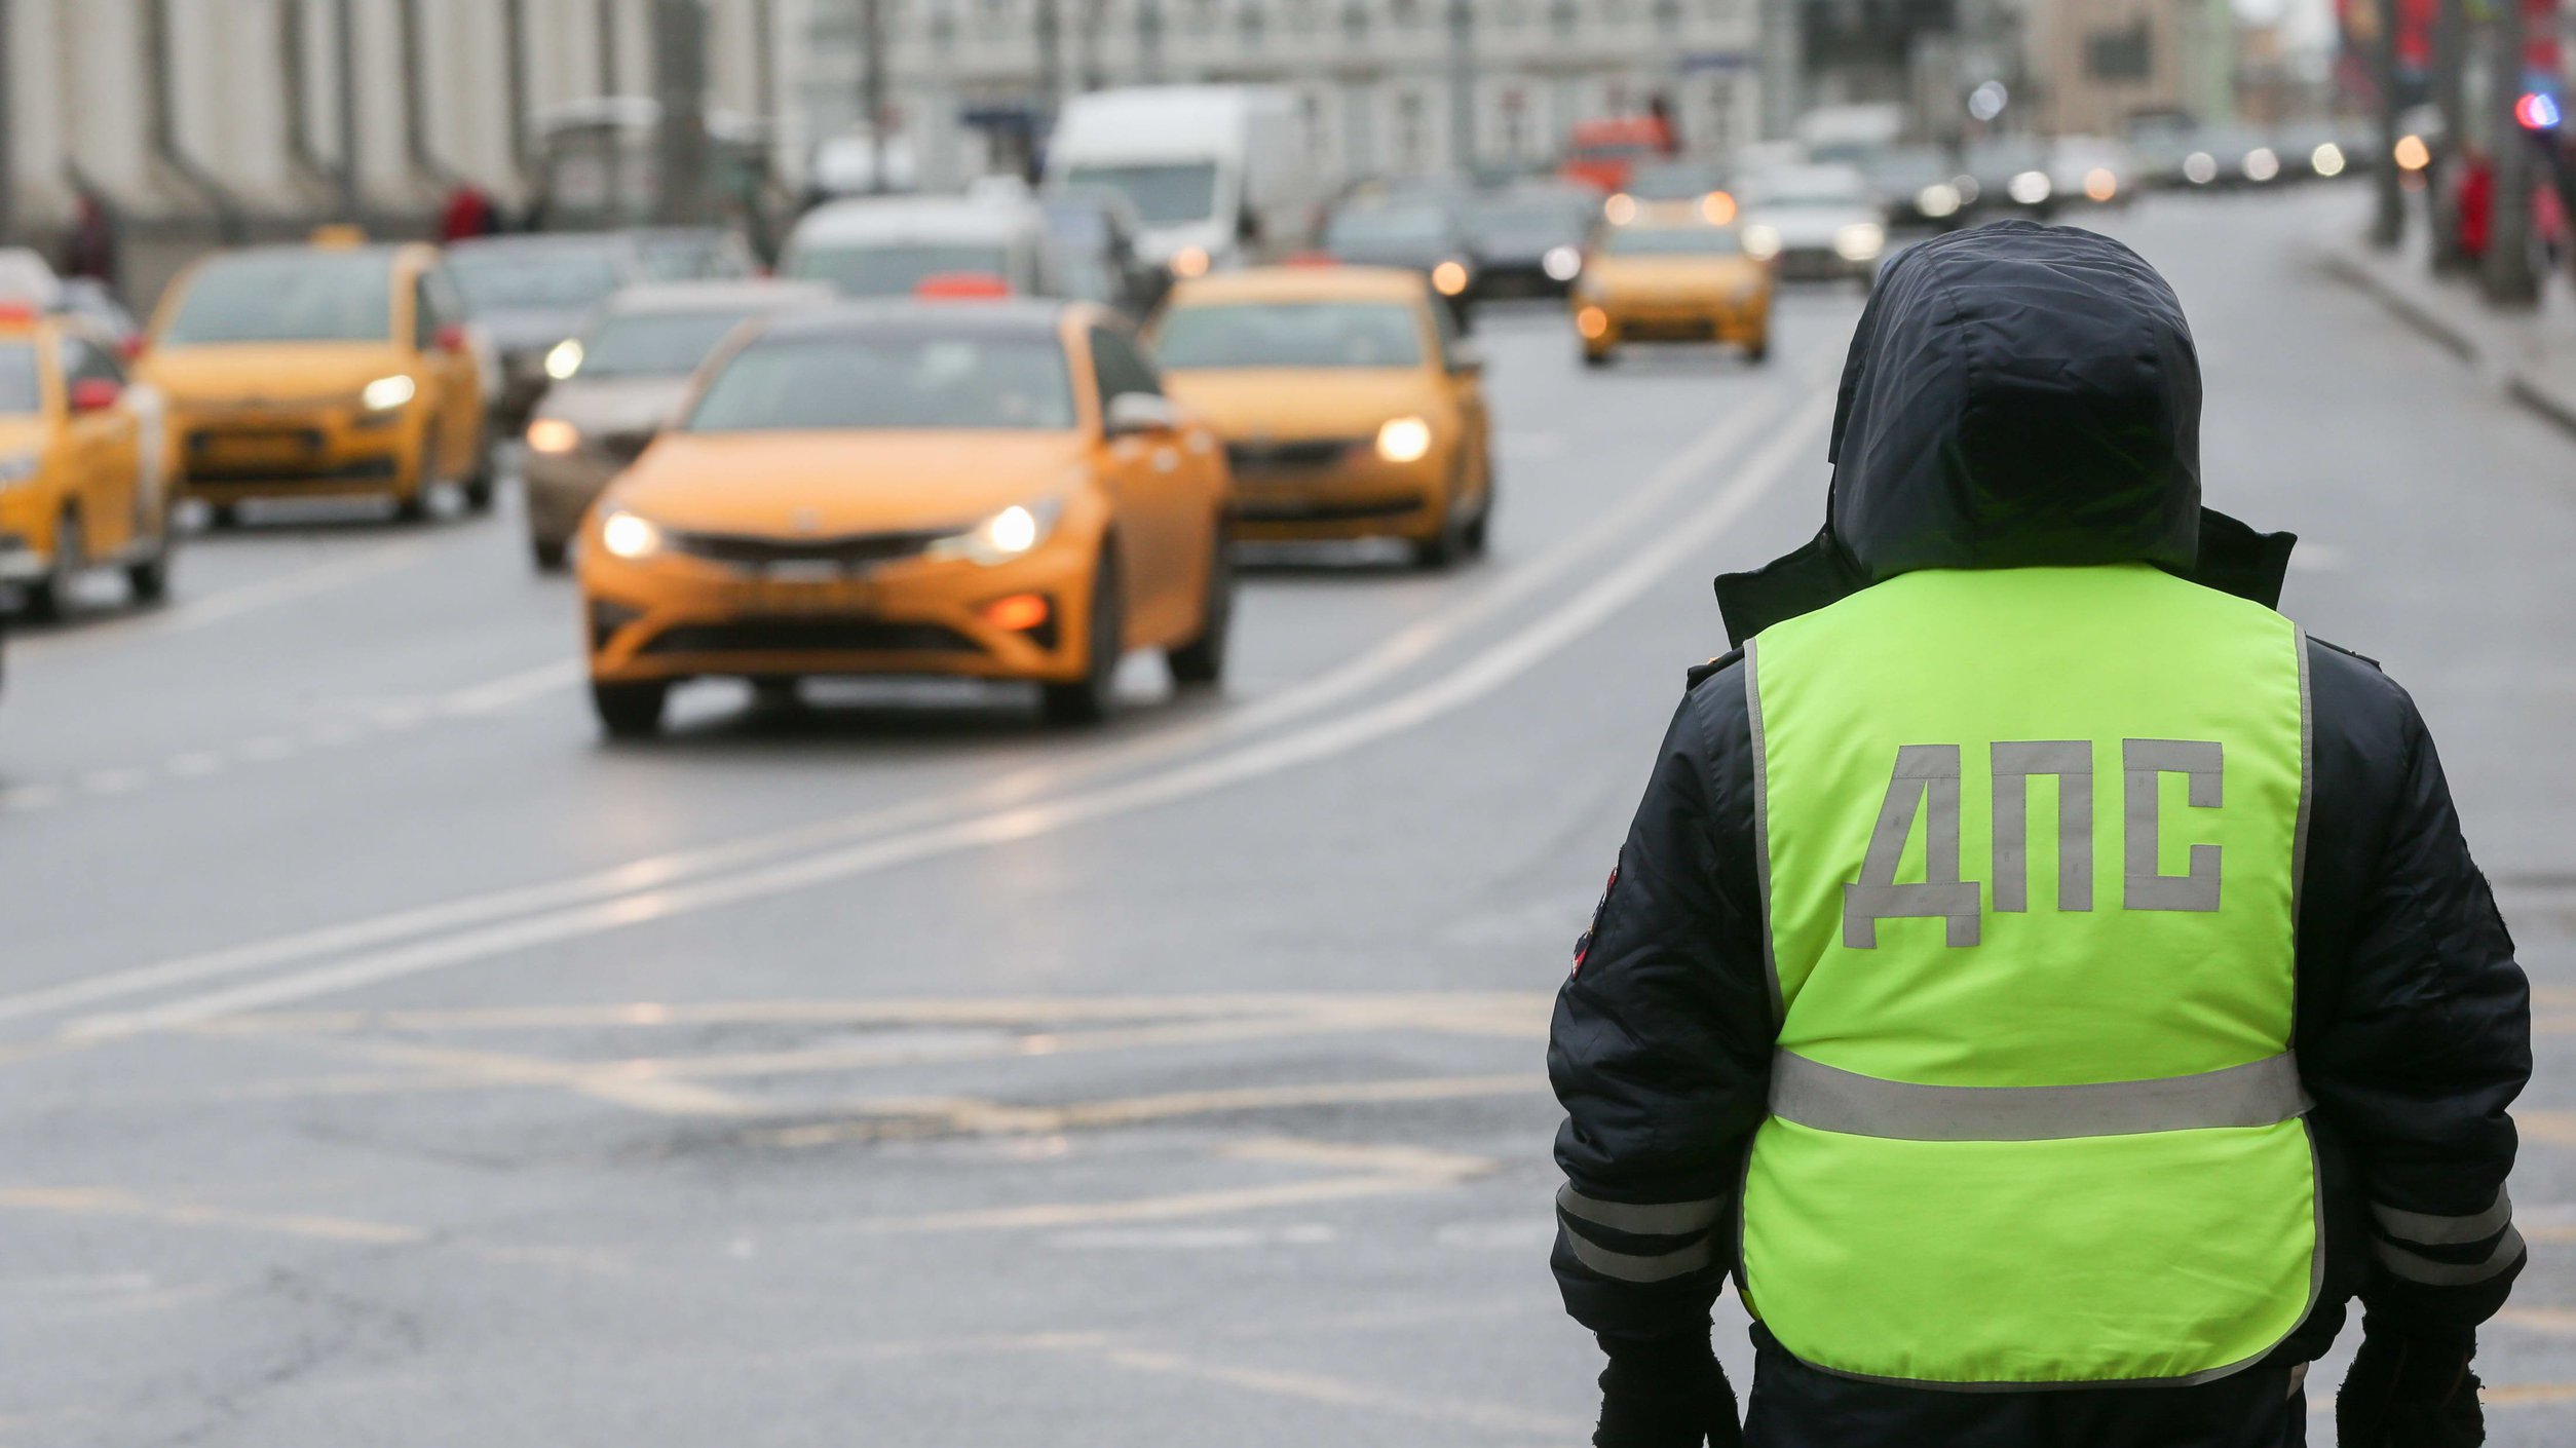
<path fill-rule="evenodd" d="M 835 577 L 778 577 L 683 554 L 616 559 L 582 549 L 590 678 L 956 675 L 1069 683 L 1090 667 L 1097 546 L 1056 533 L 1033 554 L 984 567 L 902 559 Z M 1043 626 L 1010 631 L 981 608 L 1048 598 Z"/>

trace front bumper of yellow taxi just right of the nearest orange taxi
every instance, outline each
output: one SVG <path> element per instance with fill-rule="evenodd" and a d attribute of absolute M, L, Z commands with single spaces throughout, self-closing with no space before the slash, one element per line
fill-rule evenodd
<path fill-rule="evenodd" d="M 1409 464 L 1373 438 L 1229 441 L 1239 541 L 1435 538 L 1448 526 L 1448 453 Z"/>

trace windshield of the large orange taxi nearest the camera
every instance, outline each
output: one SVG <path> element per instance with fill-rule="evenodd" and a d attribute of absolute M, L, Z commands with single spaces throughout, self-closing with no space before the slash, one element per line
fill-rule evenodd
<path fill-rule="evenodd" d="M 690 433 L 1074 425 L 1054 338 L 783 338 L 724 363 Z"/>

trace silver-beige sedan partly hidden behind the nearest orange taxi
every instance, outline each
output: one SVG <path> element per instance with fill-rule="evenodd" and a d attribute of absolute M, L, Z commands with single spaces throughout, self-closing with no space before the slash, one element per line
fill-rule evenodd
<path fill-rule="evenodd" d="M 752 317 L 829 301 L 829 286 L 791 281 L 677 281 L 611 296 L 564 343 L 569 366 L 528 420 L 520 472 L 536 567 L 564 567 L 592 500 L 662 430 L 716 343 Z"/>

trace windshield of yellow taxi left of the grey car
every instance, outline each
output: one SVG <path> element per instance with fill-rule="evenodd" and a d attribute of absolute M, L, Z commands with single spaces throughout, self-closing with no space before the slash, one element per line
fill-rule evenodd
<path fill-rule="evenodd" d="M 162 332 L 188 343 L 376 343 L 394 335 L 381 252 L 237 252 L 196 273 Z"/>

